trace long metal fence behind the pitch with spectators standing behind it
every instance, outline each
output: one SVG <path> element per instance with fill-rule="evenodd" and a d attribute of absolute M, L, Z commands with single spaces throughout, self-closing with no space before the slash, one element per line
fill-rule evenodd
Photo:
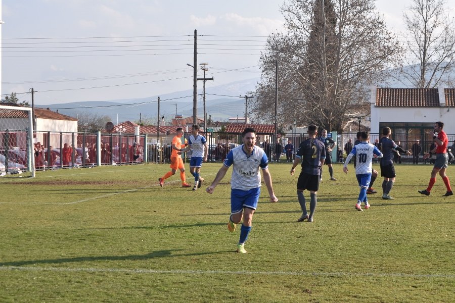
<path fill-rule="evenodd" d="M 191 133 L 185 133 L 183 144 L 185 144 Z M 226 132 L 202 133 L 207 139 L 208 162 L 224 161 L 229 150 L 242 144 L 242 134 Z M 19 137 L 21 134 L 10 133 L 10 138 Z M 356 133 L 344 133 L 337 135 L 337 147 L 333 151 L 335 162 L 343 162 L 350 150 L 345 150 L 345 144 L 349 139 L 352 143 L 356 140 Z M 101 165 L 130 165 L 137 163 L 169 163 L 171 156 L 171 137 L 150 137 L 148 135 L 134 135 L 122 133 L 66 133 L 66 132 L 34 132 L 34 161 L 35 169 L 56 169 L 71 167 L 92 167 Z M 263 148 L 269 162 L 292 162 L 300 142 L 307 138 L 301 133 L 258 133 L 256 144 Z M 370 134 L 370 141 L 379 140 L 380 134 Z M 455 134 L 448 134 L 449 145 L 453 152 Z M 411 149 L 417 139 L 420 140 L 422 151 L 419 161 L 422 162 L 423 154 L 430 150 L 433 138 L 430 136 L 419 136 L 415 134 L 393 134 L 392 139 L 404 149 Z M 15 153 L 8 153 L 7 161 L 20 165 L 28 165 L 29 159 L 24 157 L 26 146 L 18 146 L 19 140 L 3 140 L 3 150 L 17 150 Z M 286 150 L 285 146 L 293 145 L 294 150 Z M 8 146 L 6 146 L 6 145 Z M 286 153 L 288 151 L 288 153 Z M 335 156 L 336 155 L 336 156 Z M 182 155 L 186 161 L 191 157 L 191 150 Z M 400 161 L 412 162 L 412 156 L 401 156 Z"/>

